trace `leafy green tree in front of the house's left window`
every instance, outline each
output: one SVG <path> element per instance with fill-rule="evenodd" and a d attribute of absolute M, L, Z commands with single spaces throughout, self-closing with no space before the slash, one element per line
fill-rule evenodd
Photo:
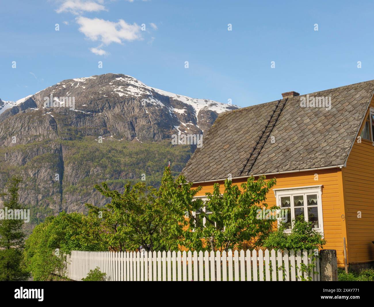
<path fill-rule="evenodd" d="M 228 250 L 240 247 L 260 246 L 273 228 L 273 220 L 257 219 L 260 204 L 267 208 L 266 194 L 276 180 L 266 181 L 264 176 L 249 177 L 241 184 L 242 191 L 232 181 L 224 183 L 221 195 L 220 184 L 215 183 L 213 193 L 206 193 L 208 200 L 194 198 L 201 187 L 192 189 L 181 175 L 173 180 L 166 170 L 160 187 L 160 198 L 169 203 L 182 228 L 175 228 L 178 243 L 194 250 Z"/>

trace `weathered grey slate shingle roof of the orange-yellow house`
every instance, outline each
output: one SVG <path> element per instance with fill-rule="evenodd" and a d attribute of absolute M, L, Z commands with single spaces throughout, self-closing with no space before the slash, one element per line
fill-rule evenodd
<path fill-rule="evenodd" d="M 374 91 L 374 80 L 309 94 L 331 97 L 331 109 L 300 106 L 291 97 L 249 175 L 343 165 Z M 221 114 L 183 174 L 190 182 L 239 177 L 276 101 Z M 242 174 L 246 175 L 246 172 Z"/>

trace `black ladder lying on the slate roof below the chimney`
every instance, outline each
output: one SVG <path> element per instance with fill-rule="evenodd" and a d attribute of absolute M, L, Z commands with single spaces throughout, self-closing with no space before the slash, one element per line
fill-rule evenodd
<path fill-rule="evenodd" d="M 278 103 L 276 104 L 272 115 L 270 115 L 270 119 L 267 121 L 265 129 L 262 130 L 260 138 L 256 142 L 255 146 L 252 148 L 251 154 L 249 154 L 249 158 L 247 159 L 246 163 L 243 164 L 243 169 L 240 171 L 240 176 L 243 174 L 243 172 L 247 172 L 247 175 L 249 175 L 249 172 L 254 166 L 258 156 L 260 156 L 261 150 L 262 148 L 264 148 L 266 141 L 270 136 L 270 133 L 272 133 L 273 128 L 277 123 L 279 115 L 281 115 L 288 98 L 286 98 L 283 103 L 281 103 L 281 100 L 282 99 L 278 100 Z"/>

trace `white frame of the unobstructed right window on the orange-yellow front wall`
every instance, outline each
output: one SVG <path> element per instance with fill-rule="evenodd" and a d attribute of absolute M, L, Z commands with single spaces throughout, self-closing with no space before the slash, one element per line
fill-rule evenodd
<path fill-rule="evenodd" d="M 318 208 L 318 228 L 313 228 L 315 231 L 324 232 L 324 219 L 322 215 L 322 184 L 318 186 L 305 186 L 305 187 L 291 187 L 291 188 L 280 188 L 280 189 L 273 189 L 275 194 L 275 199 L 277 202 L 277 206 L 281 207 L 281 197 L 289 196 L 290 197 L 290 211 L 291 211 L 291 221 L 294 219 L 294 198 L 293 196 L 296 195 L 303 195 L 304 197 L 304 218 L 307 220 L 307 195 L 317 195 L 317 208 Z M 278 210 L 278 212 L 281 210 Z M 279 214 L 280 216 L 280 214 Z M 289 218 L 289 217 L 288 217 Z M 278 219 L 278 225 L 280 225 L 281 218 Z M 291 222 L 291 229 L 293 225 Z M 291 232 L 291 229 L 286 229 L 285 232 Z"/>

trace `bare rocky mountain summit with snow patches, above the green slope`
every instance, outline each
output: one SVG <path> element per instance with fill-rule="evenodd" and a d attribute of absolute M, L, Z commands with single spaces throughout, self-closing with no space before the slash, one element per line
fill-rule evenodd
<path fill-rule="evenodd" d="M 62 107 L 65 97 L 74 102 L 73 108 Z M 46 100 L 51 98 L 57 105 L 46 107 Z M 0 122 L 19 112 L 40 119 L 59 115 L 53 126 L 65 118 L 73 127 L 90 127 L 85 135 L 160 140 L 174 133 L 201 134 L 218 114 L 237 108 L 159 90 L 131 76 L 107 73 L 64 80 L 16 102 L 6 102 Z"/>

